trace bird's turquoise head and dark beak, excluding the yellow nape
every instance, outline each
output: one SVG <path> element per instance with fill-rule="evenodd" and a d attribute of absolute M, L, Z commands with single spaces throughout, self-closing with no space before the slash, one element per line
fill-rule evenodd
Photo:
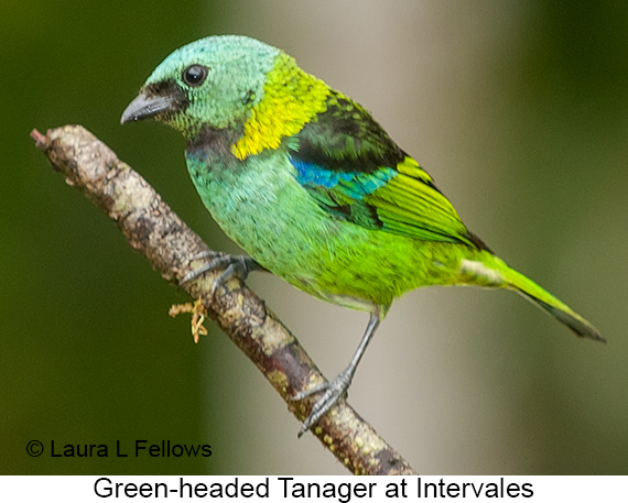
<path fill-rule="evenodd" d="M 121 123 L 154 117 L 186 138 L 203 124 L 242 124 L 264 95 L 281 52 L 246 36 L 209 36 L 167 56 L 122 113 Z"/>

